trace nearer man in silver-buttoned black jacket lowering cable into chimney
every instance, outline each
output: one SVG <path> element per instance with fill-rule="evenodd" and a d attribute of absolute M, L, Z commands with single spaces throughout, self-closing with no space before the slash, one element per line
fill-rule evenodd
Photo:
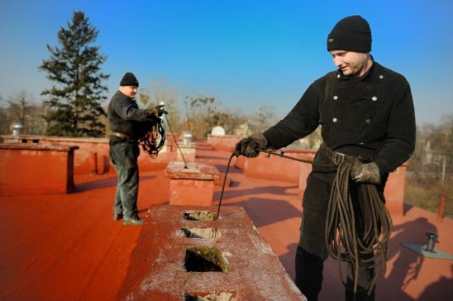
<path fill-rule="evenodd" d="M 332 255 L 333 240 L 328 238 L 326 221 L 331 189 L 336 176 L 342 175 L 340 170 L 348 172 L 346 186 L 351 204 L 357 209 L 348 212 L 355 217 L 355 223 L 342 228 L 343 235 L 355 229 L 354 239 L 363 244 L 367 242 L 364 224 L 377 218 L 377 213 L 361 215 L 365 206 L 369 206 L 365 189 L 374 186 L 379 194 L 377 203 L 384 207 L 383 191 L 389 172 L 408 160 L 415 148 L 410 85 L 401 74 L 374 61 L 369 54 L 371 48 L 367 20 L 361 16 L 340 20 L 327 37 L 327 50 L 338 70 L 311 83 L 289 114 L 275 126 L 243 138 L 235 148 L 236 156 L 256 157 L 260 149 L 288 146 L 321 126 L 323 143 L 315 155 L 304 191 L 295 261 L 295 283 L 309 301 L 318 300 L 323 262 L 328 254 Z M 373 233 L 379 237 L 381 224 Z M 340 243 L 348 242 L 343 237 Z M 385 253 L 386 244 L 384 247 Z M 346 300 L 374 300 L 375 254 L 372 250 L 357 256 L 357 261 L 354 256 L 342 258 L 348 262 Z M 386 254 L 384 267 L 385 259 Z"/>

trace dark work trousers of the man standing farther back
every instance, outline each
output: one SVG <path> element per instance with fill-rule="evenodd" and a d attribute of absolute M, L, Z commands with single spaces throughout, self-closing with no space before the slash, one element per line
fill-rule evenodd
<path fill-rule="evenodd" d="M 138 216 L 139 146 L 137 141 L 123 138 L 110 138 L 109 145 L 110 159 L 118 174 L 113 211 L 123 214 L 125 218 L 136 218 Z"/>

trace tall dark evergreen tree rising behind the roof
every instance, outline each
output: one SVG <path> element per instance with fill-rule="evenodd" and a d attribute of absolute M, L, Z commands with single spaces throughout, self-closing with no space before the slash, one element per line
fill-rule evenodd
<path fill-rule="evenodd" d="M 110 75 L 101 72 L 107 56 L 99 54 L 100 47 L 91 46 L 97 36 L 98 30 L 85 14 L 75 11 L 68 28 L 58 31 L 61 48 L 47 45 L 50 59 L 43 60 L 39 69 L 54 83 L 41 93 L 49 97 L 44 102 L 48 135 L 98 137 L 105 133 L 101 101 L 107 98 L 108 88 L 102 81 Z"/>

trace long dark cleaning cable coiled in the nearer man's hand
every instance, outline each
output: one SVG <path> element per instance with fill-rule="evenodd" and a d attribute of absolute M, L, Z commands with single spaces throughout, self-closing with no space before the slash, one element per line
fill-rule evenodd
<path fill-rule="evenodd" d="M 289 160 L 295 160 L 311 165 L 314 164 L 312 160 L 294 158 L 273 151 L 259 151 Z M 226 165 L 219 205 L 214 220 L 219 218 L 226 177 L 233 157 L 234 153 L 231 153 Z M 316 165 L 325 167 L 337 166 L 331 164 Z M 328 254 L 338 261 L 338 271 L 343 285 L 345 286 L 347 283 L 344 280 L 345 276 L 343 275 L 341 262 L 346 261 L 352 264 L 354 270 L 354 293 L 357 293 L 359 269 L 374 268 L 379 264 L 379 270 L 377 273 L 374 273 L 372 281 L 369 283 L 369 288 L 367 288 L 367 294 L 370 295 L 374 285 L 376 285 L 377 276 L 384 276 L 386 271 L 388 242 L 392 226 L 391 216 L 385 206 L 384 196 L 379 193 L 376 186 L 366 183 L 360 184 L 360 189 L 363 194 L 363 211 L 360 212 L 360 210 L 358 210 L 357 212 L 357 204 L 354 206 L 349 189 L 351 168 L 352 163 L 348 161 L 344 161 L 338 165 L 338 170 L 332 184 L 328 201 L 325 232 L 326 246 Z M 361 233 L 357 232 L 356 218 L 360 218 L 360 221 L 363 224 Z"/>

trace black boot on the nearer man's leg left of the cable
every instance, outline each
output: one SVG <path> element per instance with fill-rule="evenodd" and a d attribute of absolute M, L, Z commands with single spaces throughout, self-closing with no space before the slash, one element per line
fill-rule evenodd
<path fill-rule="evenodd" d="M 309 301 L 317 301 L 323 283 L 324 261 L 301 247 L 296 251 L 296 285 Z"/>

